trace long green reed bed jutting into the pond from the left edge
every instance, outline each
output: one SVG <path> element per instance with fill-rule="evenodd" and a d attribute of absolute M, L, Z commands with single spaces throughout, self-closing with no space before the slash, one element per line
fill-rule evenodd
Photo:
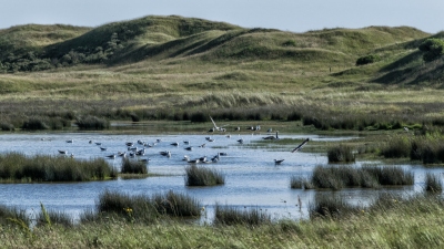
<path fill-rule="evenodd" d="M 102 158 L 79 160 L 67 156 L 21 153 L 0 155 L 2 181 L 84 181 L 115 178 L 118 173 Z"/>

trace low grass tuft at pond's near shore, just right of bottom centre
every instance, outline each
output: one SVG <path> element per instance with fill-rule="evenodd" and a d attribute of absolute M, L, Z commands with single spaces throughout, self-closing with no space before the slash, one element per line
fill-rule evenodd
<path fill-rule="evenodd" d="M 272 222 L 271 215 L 261 208 L 236 208 L 228 205 L 215 205 L 215 225 L 243 225 L 260 226 L 270 225 Z"/>

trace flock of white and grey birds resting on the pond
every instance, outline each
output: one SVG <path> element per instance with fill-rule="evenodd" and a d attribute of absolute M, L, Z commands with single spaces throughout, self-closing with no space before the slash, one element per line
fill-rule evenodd
<path fill-rule="evenodd" d="M 211 118 L 211 122 L 213 123 L 213 127 L 211 127 L 211 128 L 209 129 L 209 132 L 215 132 L 215 131 L 219 131 L 219 132 L 226 132 L 226 128 L 224 128 L 223 126 L 222 126 L 222 127 L 219 127 L 219 126 L 215 124 L 215 122 L 213 121 L 213 118 L 212 118 L 211 116 L 210 116 L 210 118 Z M 240 127 L 235 127 L 235 128 L 234 128 L 234 131 L 240 131 L 240 129 L 241 129 Z M 258 125 L 258 126 L 250 126 L 250 127 L 248 127 L 246 129 L 260 131 L 260 129 L 261 129 L 261 126 L 260 126 L 260 125 Z M 269 128 L 269 129 L 268 129 L 268 133 L 269 133 L 269 134 L 272 133 L 272 128 Z M 226 137 L 231 137 L 231 135 L 226 135 Z M 211 136 L 205 137 L 205 139 L 206 139 L 206 142 L 209 142 L 209 143 L 214 142 L 214 138 L 212 138 Z M 262 139 L 268 139 L 268 141 L 280 139 L 280 137 L 279 137 L 279 132 L 276 132 L 275 135 L 264 136 L 264 137 L 262 137 Z M 65 142 L 72 144 L 72 143 L 73 143 L 73 139 L 69 139 L 69 141 L 65 141 Z M 238 142 L 239 144 L 243 144 L 243 143 L 244 143 L 243 138 L 240 138 L 240 139 L 238 139 L 236 142 Z M 307 142 L 309 142 L 309 138 L 304 139 L 300 145 L 297 145 L 297 146 L 296 146 L 294 149 L 292 149 L 291 152 L 292 152 L 292 153 L 295 153 L 295 152 L 300 151 Z M 89 143 L 92 144 L 93 142 L 90 141 Z M 153 142 L 153 143 L 147 143 L 147 142 L 143 142 L 143 141 L 140 141 L 140 139 L 139 139 L 137 143 L 127 142 L 127 143 L 125 143 L 125 145 L 127 145 L 127 151 L 125 151 L 125 152 L 118 152 L 117 154 L 110 154 L 110 155 L 107 155 L 105 157 L 107 157 L 107 158 L 110 158 L 110 159 L 114 159 L 114 158 L 117 158 L 117 157 L 122 157 L 122 158 L 127 158 L 127 157 L 130 157 L 130 158 L 139 158 L 139 160 L 141 160 L 141 162 L 149 163 L 149 162 L 150 162 L 150 158 L 141 158 L 141 157 L 145 155 L 145 153 L 147 153 L 147 149 L 145 149 L 145 148 L 147 148 L 147 147 L 154 147 L 154 146 L 155 146 L 157 144 L 159 144 L 159 143 L 162 143 L 162 141 L 161 141 L 161 139 L 157 139 L 157 141 Z M 98 146 L 100 146 L 100 149 L 101 149 L 101 151 L 107 151 L 107 149 L 108 149 L 107 147 L 103 147 L 103 146 L 102 146 L 102 143 L 94 143 L 94 144 L 98 145 Z M 184 147 L 185 151 L 193 151 L 193 147 L 192 147 L 192 146 L 189 146 L 189 144 L 190 144 L 189 141 L 184 141 L 183 144 L 185 145 L 185 147 Z M 170 143 L 170 145 L 171 145 L 171 146 L 179 146 L 180 143 L 173 142 L 173 143 Z M 203 143 L 203 144 L 199 145 L 199 147 L 205 147 L 205 145 L 206 145 L 206 143 Z M 140 148 L 140 147 L 138 147 L 138 146 L 141 146 L 142 148 Z M 59 149 L 59 153 L 62 154 L 62 155 L 69 155 L 68 151 Z M 162 151 L 162 152 L 160 152 L 160 155 L 165 156 L 165 157 L 171 157 L 172 154 L 171 154 L 171 151 Z M 70 156 L 71 156 L 72 158 L 74 157 L 74 155 L 73 155 L 72 153 L 70 154 Z M 193 159 L 191 159 L 188 155 L 184 155 L 183 160 L 185 160 L 185 162 L 188 162 L 188 163 L 190 163 L 190 164 L 210 164 L 210 163 L 216 163 L 216 162 L 219 162 L 221 156 L 226 156 L 226 153 L 218 153 L 215 156 L 213 156 L 213 157 L 211 157 L 211 158 L 208 158 L 206 156 L 202 156 L 202 157 L 193 158 Z M 282 164 L 282 162 L 284 162 L 284 159 L 274 159 L 274 164 L 275 164 L 275 165 L 280 165 L 280 164 Z"/>

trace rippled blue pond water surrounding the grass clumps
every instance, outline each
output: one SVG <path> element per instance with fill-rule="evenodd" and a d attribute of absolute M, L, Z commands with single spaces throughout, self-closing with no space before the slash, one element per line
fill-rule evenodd
<path fill-rule="evenodd" d="M 91 159 L 105 158 L 118 152 L 128 152 L 127 142 L 134 143 L 138 149 L 144 147 L 145 155 L 150 158 L 148 168 L 150 173 L 160 176 L 143 179 L 117 179 L 107 181 L 88 183 L 50 183 L 50 184 L 0 184 L 0 204 L 26 209 L 30 215 L 40 211 L 40 204 L 49 210 L 71 214 L 74 219 L 87 209 L 93 209 L 99 195 L 104 190 L 118 190 L 131 195 L 148 195 L 174 190 L 195 197 L 206 207 L 206 218 L 213 217 L 215 204 L 229 205 L 239 208 L 260 208 L 272 215 L 275 219 L 301 219 L 309 217 L 309 205 L 313 201 L 316 190 L 291 189 L 290 178 L 294 175 L 310 176 L 317 165 L 327 165 L 325 153 L 306 153 L 304 149 L 291 153 L 304 138 L 335 143 L 345 139 L 359 139 L 353 136 L 329 137 L 319 135 L 287 135 L 280 134 L 280 138 L 292 138 L 294 145 L 273 146 L 275 141 L 264 141 L 262 137 L 270 134 L 168 134 L 168 135 L 109 135 L 102 133 L 30 133 L 0 135 L 0 153 L 21 152 L 26 155 L 46 154 L 59 155 L 59 149 L 73 154 L 75 158 Z M 214 141 L 209 142 L 211 137 Z M 243 138 L 240 144 L 238 139 Z M 159 142 L 158 142 L 159 139 Z M 142 141 L 147 145 L 138 144 Z M 256 142 L 266 143 L 255 146 Z M 72 142 L 72 143 L 71 143 Z M 179 143 L 179 146 L 171 145 Z M 186 143 L 185 143 L 186 142 Z M 100 143 L 98 145 L 97 143 Z M 201 147 L 201 145 L 205 146 Z M 192 146 L 192 151 L 185 147 Z M 306 146 L 310 146 L 310 142 Z M 105 148 L 105 151 L 101 149 Z M 160 152 L 170 151 L 171 157 L 165 157 Z M 183 160 L 184 155 L 190 158 L 206 156 L 211 158 L 218 153 L 226 153 L 218 163 L 205 164 L 221 170 L 225 176 L 225 184 L 214 187 L 186 187 L 184 168 L 189 165 Z M 274 159 L 284 159 L 280 165 Z M 107 159 L 110 165 L 120 167 L 121 159 Z M 360 166 L 367 163 L 356 162 Z M 421 165 L 403 165 L 414 172 L 413 186 L 383 188 L 380 190 L 351 188 L 340 193 L 345 195 L 351 203 L 365 203 L 379 191 L 412 193 L 421 191 L 426 170 L 443 174 L 441 168 L 425 169 Z M 335 194 L 334 191 L 323 191 Z M 299 207 L 299 199 L 302 207 Z M 210 217 L 210 218 L 209 218 Z"/>

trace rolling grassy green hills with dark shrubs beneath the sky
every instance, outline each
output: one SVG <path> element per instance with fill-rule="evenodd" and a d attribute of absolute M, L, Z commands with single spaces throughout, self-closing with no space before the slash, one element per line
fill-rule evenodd
<path fill-rule="evenodd" d="M 278 61 L 293 63 L 303 69 L 303 73 L 311 74 L 333 68 L 332 76 L 336 81 L 415 84 L 441 75 L 441 62 L 433 69 L 421 68 L 417 46 L 428 37 L 428 33 L 410 27 L 337 28 L 293 33 L 244 29 L 178 15 L 148 15 L 93 29 L 29 24 L 0 30 L 0 71 L 42 71 L 79 64 L 111 69 L 162 61 L 179 64 Z M 359 58 L 367 54 L 381 60 L 354 66 Z M 424 75 L 418 75 L 421 72 Z"/>

